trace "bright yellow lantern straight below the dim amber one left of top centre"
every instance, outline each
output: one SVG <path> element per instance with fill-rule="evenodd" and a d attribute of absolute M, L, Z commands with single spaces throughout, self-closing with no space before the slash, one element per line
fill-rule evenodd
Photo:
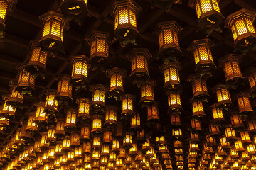
<path fill-rule="evenodd" d="M 102 84 L 96 84 L 90 87 L 90 91 L 92 91 L 92 105 L 97 108 L 105 107 L 107 87 Z"/>

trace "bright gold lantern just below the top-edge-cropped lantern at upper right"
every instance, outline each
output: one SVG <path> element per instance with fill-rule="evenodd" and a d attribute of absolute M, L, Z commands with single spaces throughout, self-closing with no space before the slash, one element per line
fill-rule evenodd
<path fill-rule="evenodd" d="M 194 55 L 197 73 L 210 74 L 210 71 L 216 67 L 213 62 L 213 55 L 210 52 L 212 46 L 213 42 L 209 39 L 203 39 L 193 41 L 188 47 L 188 50 Z"/>

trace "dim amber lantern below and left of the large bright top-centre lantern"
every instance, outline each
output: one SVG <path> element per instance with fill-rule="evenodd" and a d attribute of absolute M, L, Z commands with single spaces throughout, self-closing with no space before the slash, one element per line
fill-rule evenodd
<path fill-rule="evenodd" d="M 106 62 L 109 57 L 110 35 L 105 32 L 94 32 L 86 39 L 90 45 L 90 60 L 94 64 Z"/>

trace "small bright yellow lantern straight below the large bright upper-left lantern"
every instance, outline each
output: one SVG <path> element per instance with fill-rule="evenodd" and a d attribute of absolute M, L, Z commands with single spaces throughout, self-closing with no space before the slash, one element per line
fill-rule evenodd
<path fill-rule="evenodd" d="M 58 112 L 58 101 L 55 98 L 55 91 L 48 91 L 46 93 L 45 110 L 46 113 Z"/>

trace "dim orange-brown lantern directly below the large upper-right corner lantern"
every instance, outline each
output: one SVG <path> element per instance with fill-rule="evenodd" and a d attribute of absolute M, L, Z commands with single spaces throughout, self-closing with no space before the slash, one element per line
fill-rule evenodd
<path fill-rule="evenodd" d="M 238 81 L 244 79 L 239 67 L 241 55 L 229 54 L 218 60 L 220 67 L 223 67 L 226 81 Z"/>

